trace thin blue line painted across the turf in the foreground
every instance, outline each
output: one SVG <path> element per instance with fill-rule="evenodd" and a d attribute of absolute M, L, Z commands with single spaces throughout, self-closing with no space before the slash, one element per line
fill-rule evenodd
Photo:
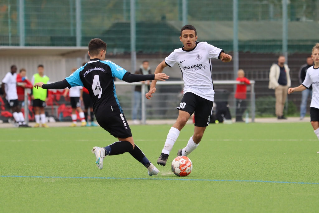
<path fill-rule="evenodd" d="M 143 177 L 60 177 L 60 176 L 19 176 L 1 175 L 0 177 L 28 177 L 28 178 L 63 178 L 63 179 L 124 179 L 124 180 L 179 180 L 179 181 L 213 181 L 213 182 L 252 182 L 252 183 L 285 183 L 285 184 L 317 184 L 308 182 L 267 181 L 267 180 L 211 180 L 185 178 L 143 178 Z"/>

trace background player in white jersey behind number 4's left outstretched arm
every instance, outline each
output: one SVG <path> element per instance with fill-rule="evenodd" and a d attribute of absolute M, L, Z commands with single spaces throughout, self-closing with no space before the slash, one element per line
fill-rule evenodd
<path fill-rule="evenodd" d="M 74 73 L 76 70 L 77 70 L 76 68 L 73 68 L 71 74 Z M 77 119 L 78 119 L 77 111 L 81 119 L 81 126 L 86 126 L 84 112 L 81 109 L 81 102 L 80 102 L 80 101 L 83 101 L 83 98 L 82 98 L 83 87 L 77 86 L 77 87 L 71 87 L 70 89 L 66 88 L 63 93 L 64 98 L 68 95 L 68 92 L 69 92 L 71 108 L 72 108 L 72 114 L 71 114 L 72 124 L 70 125 L 70 127 L 77 126 Z"/>

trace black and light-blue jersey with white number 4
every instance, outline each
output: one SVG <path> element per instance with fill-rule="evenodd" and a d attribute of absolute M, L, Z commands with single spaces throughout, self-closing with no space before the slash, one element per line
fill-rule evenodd
<path fill-rule="evenodd" d="M 117 99 L 114 78 L 122 80 L 126 72 L 112 61 L 91 59 L 65 79 L 71 87 L 83 86 L 88 89 L 94 114 L 100 109 L 108 116 L 113 116 L 123 113 Z"/>

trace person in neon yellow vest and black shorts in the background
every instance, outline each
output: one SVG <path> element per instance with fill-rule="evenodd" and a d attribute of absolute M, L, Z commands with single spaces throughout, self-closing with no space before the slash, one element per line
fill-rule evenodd
<path fill-rule="evenodd" d="M 44 75 L 44 67 L 43 65 L 38 66 L 38 73 L 34 74 L 32 77 L 32 84 L 38 82 L 48 83 L 49 77 Z M 31 99 L 33 100 L 33 108 L 34 108 L 34 119 L 35 125 L 34 127 L 40 127 L 40 118 L 41 118 L 41 126 L 48 128 L 48 125 L 45 123 L 45 113 L 44 107 L 46 106 L 46 102 L 48 101 L 48 90 L 46 89 L 36 89 L 33 87 Z"/>

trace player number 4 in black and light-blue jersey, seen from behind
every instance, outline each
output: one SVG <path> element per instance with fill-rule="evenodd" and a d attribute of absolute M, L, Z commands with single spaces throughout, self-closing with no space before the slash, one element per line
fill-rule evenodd
<path fill-rule="evenodd" d="M 116 96 L 114 78 L 126 82 L 147 80 L 165 81 L 168 79 L 164 73 L 153 75 L 134 75 L 115 63 L 104 60 L 106 43 L 99 38 L 94 38 L 89 43 L 90 61 L 77 69 L 63 81 L 44 84 L 36 83 L 34 87 L 43 89 L 64 89 L 83 86 L 88 89 L 93 101 L 93 111 L 96 121 L 118 141 L 104 148 L 94 146 L 92 152 L 96 156 L 96 164 L 103 168 L 103 159 L 106 155 L 130 153 L 137 161 L 141 162 L 148 170 L 150 176 L 157 175 L 159 170 L 145 157 L 143 152 L 134 144 L 129 124 L 124 116 L 122 107 Z"/>

